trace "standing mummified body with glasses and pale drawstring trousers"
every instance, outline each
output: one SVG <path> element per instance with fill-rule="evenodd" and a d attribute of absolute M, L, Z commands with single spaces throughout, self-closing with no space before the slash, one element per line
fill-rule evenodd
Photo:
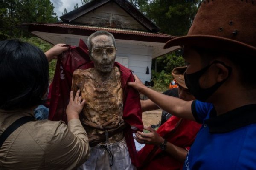
<path fill-rule="evenodd" d="M 116 42 L 112 34 L 97 31 L 88 37 L 89 57 L 94 68 L 73 73 L 72 90 L 81 90 L 86 100 L 80 113 L 87 132 L 90 157 L 80 170 L 135 170 L 131 162 L 123 121 L 121 73 L 114 67 Z"/>

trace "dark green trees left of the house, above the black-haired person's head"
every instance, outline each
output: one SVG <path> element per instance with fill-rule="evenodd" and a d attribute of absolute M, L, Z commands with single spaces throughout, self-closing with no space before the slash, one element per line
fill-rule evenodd
<path fill-rule="evenodd" d="M 57 22 L 50 0 L 1 0 L 0 3 L 0 40 L 7 37 L 22 37 L 22 23 Z"/>

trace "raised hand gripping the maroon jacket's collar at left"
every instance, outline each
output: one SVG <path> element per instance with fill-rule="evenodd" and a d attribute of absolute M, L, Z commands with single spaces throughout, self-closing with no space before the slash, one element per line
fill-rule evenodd
<path fill-rule="evenodd" d="M 52 59 L 56 59 L 58 55 L 63 53 L 63 51 L 68 50 L 68 48 L 69 47 L 66 44 L 56 44 L 44 54 L 46 55 L 48 62 L 51 62 Z"/>

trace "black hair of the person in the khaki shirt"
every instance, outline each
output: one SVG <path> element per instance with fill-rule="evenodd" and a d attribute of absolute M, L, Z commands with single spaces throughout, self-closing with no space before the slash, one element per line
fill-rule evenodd
<path fill-rule="evenodd" d="M 0 108 L 31 108 L 44 102 L 49 65 L 43 51 L 20 40 L 0 42 Z"/>

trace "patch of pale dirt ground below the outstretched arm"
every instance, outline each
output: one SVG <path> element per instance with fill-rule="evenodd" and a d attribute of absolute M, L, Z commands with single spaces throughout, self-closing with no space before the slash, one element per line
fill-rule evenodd
<path fill-rule="evenodd" d="M 142 113 L 142 121 L 144 126 L 150 126 L 158 124 L 161 121 L 162 110 L 146 111 Z"/>

